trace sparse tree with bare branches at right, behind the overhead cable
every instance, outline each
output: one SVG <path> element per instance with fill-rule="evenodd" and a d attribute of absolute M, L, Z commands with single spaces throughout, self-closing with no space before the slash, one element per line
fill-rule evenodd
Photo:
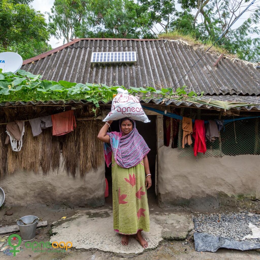
<path fill-rule="evenodd" d="M 181 28 L 182 31 L 196 31 L 196 37 L 202 41 L 208 41 L 209 38 L 216 41 L 223 34 L 217 42 L 218 45 L 230 53 L 236 53 L 241 59 L 256 60 L 258 58 L 260 48 L 257 46 L 260 43 L 258 37 L 260 30 L 256 25 L 260 22 L 259 6 L 251 6 L 246 11 L 249 15 L 239 27 L 229 28 L 249 5 L 249 0 L 178 0 L 178 2 L 184 10 L 183 13 L 190 14 L 190 10 L 196 11 L 193 17 L 193 28 L 190 23 L 182 23 L 184 26 Z M 199 17 L 202 22 L 199 21 Z M 178 28 L 176 22 L 171 25 L 172 29 Z M 257 37 L 252 38 L 250 35 L 257 35 Z M 253 48 L 254 46 L 256 48 Z"/>

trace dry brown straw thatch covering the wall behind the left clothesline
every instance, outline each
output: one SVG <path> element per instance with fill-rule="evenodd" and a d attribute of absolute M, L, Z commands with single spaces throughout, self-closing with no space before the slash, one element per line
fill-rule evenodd
<path fill-rule="evenodd" d="M 63 112 L 56 107 L 3 108 L 0 111 L 1 123 L 14 120 L 28 120 L 39 116 Z M 66 107 L 66 110 L 70 107 Z M 89 107 L 75 110 L 76 117 L 93 117 Z M 42 133 L 33 136 L 29 121 L 25 122 L 23 146 L 20 152 L 14 152 L 10 143 L 4 145 L 6 125 L 0 125 L 0 177 L 21 169 L 44 174 L 57 171 L 62 154 L 64 168 L 73 176 L 79 172 L 84 176 L 91 168 L 97 168 L 103 162 L 102 142 L 97 139 L 101 128 L 100 120 L 77 121 L 74 132 L 63 136 L 53 136 L 52 128 L 42 129 Z"/>

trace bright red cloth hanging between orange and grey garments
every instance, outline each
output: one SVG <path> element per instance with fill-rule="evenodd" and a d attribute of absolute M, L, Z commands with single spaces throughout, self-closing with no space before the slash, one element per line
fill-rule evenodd
<path fill-rule="evenodd" d="M 204 127 L 203 120 L 199 120 L 199 119 L 195 120 L 192 136 L 195 139 L 194 147 L 193 147 L 194 156 L 197 156 L 198 153 L 205 154 L 207 148 L 206 148 L 206 138 L 205 138 L 205 127 Z"/>

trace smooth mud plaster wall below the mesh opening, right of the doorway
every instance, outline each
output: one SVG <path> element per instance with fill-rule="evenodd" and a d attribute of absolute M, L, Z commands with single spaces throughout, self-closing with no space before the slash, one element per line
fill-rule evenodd
<path fill-rule="evenodd" d="M 162 146 L 158 151 L 159 205 L 200 204 L 206 208 L 233 204 L 243 195 L 260 199 L 259 158 L 238 155 L 196 162 L 194 156 L 178 157 L 177 149 Z"/>

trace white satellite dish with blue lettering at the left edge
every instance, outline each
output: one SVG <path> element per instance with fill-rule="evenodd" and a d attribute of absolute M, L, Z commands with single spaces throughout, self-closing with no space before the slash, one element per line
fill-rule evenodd
<path fill-rule="evenodd" d="M 11 51 L 0 53 L 0 69 L 3 69 L 2 72 L 16 73 L 22 67 L 22 64 L 23 59 L 18 53 Z"/>

